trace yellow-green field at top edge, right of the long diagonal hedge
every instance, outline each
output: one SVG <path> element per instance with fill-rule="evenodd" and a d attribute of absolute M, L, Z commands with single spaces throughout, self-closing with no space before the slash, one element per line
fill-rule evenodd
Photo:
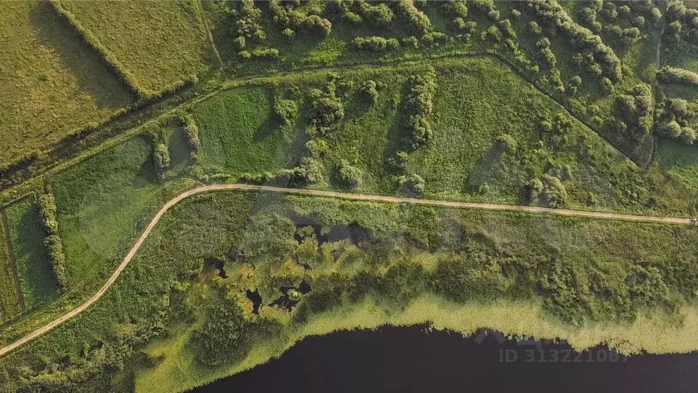
<path fill-rule="evenodd" d="M 61 1 L 154 92 L 205 73 L 213 60 L 193 1 Z M 215 55 L 214 55 L 215 56 Z"/>

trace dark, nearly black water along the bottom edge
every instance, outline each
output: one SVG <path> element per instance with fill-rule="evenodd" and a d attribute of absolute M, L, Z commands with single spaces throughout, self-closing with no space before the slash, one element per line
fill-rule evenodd
<path fill-rule="evenodd" d="M 425 328 L 309 337 L 195 392 L 698 392 L 698 354 L 625 358 L 605 347 L 463 338 Z"/>

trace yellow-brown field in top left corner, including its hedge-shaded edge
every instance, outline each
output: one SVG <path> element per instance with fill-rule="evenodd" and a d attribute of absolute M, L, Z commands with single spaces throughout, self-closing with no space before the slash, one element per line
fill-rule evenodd
<path fill-rule="evenodd" d="M 0 163 L 54 144 L 132 99 L 49 4 L 2 4 Z"/>

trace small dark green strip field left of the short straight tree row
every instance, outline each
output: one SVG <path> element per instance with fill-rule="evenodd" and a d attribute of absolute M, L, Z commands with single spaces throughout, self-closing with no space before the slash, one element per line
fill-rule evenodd
<path fill-rule="evenodd" d="M 44 249 L 46 235 L 39 207 L 32 197 L 27 197 L 6 208 L 5 213 L 25 307 L 37 308 L 56 294 L 51 262 Z"/>

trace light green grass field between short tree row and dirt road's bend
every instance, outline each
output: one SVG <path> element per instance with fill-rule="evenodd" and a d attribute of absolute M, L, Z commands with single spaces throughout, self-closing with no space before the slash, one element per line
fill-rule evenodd
<path fill-rule="evenodd" d="M 59 230 L 75 279 L 113 258 L 145 208 L 166 191 L 156 181 L 151 151 L 146 138 L 134 137 L 55 177 Z"/>

